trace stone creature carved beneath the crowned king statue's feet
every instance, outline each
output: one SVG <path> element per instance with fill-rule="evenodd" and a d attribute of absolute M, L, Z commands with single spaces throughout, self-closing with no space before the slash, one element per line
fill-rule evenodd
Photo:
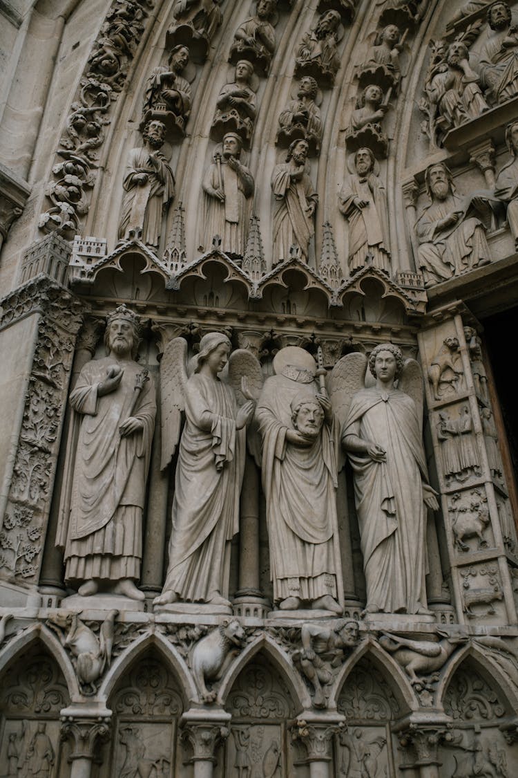
<path fill-rule="evenodd" d="M 59 637 L 61 645 L 74 657 L 75 671 L 83 692 L 95 694 L 96 681 L 110 665 L 116 610 L 110 611 L 99 629 L 99 636 L 79 619 L 81 613 L 54 614 L 47 622 Z"/>

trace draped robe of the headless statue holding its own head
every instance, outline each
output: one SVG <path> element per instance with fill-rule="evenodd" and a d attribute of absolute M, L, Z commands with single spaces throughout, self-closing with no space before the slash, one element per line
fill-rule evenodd
<path fill-rule="evenodd" d="M 310 447 L 286 440 L 287 429 L 294 429 L 290 402 L 301 391 L 316 394 L 310 380 L 301 383 L 295 374 L 293 380 L 286 375 L 268 378 L 256 409 L 276 602 L 287 597 L 315 600 L 325 594 L 342 600 L 334 429 L 324 424 Z"/>

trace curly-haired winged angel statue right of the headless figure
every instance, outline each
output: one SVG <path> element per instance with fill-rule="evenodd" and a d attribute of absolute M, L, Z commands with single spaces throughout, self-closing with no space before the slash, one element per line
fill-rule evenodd
<path fill-rule="evenodd" d="M 426 507 L 438 510 L 422 447 L 422 374 L 392 343 L 335 365 L 342 445 L 354 473 L 365 613 L 426 615 Z M 398 388 L 395 388 L 397 382 Z"/>

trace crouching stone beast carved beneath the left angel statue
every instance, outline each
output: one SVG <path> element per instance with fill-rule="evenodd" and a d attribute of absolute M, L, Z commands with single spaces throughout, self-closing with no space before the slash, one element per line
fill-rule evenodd
<path fill-rule="evenodd" d="M 207 681 L 217 681 L 232 659 L 237 656 L 245 640 L 245 630 L 238 619 L 225 619 L 193 646 L 190 664 L 194 680 L 204 702 L 213 703 L 217 692 L 207 689 Z"/>

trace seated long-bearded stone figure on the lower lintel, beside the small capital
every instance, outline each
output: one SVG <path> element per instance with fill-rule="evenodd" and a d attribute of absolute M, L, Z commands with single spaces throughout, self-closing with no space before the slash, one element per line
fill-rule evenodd
<path fill-rule="evenodd" d="M 415 235 L 419 269 L 429 287 L 487 265 L 491 254 L 480 218 L 488 214 L 488 193 L 457 195 L 450 170 L 442 162 L 427 168 L 425 184 L 431 202 L 415 223 Z"/>

